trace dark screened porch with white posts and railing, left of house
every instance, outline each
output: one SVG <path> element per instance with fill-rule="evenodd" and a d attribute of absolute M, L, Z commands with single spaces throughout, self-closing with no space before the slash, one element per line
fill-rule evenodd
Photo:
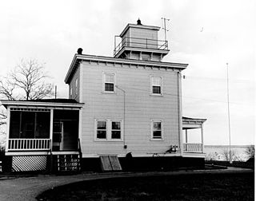
<path fill-rule="evenodd" d="M 32 101 L 8 101 L 9 104 L 14 102 L 15 105 L 4 104 L 8 116 L 6 152 L 78 150 L 81 104 L 49 105 L 35 101 L 43 104 L 38 107 Z"/>

